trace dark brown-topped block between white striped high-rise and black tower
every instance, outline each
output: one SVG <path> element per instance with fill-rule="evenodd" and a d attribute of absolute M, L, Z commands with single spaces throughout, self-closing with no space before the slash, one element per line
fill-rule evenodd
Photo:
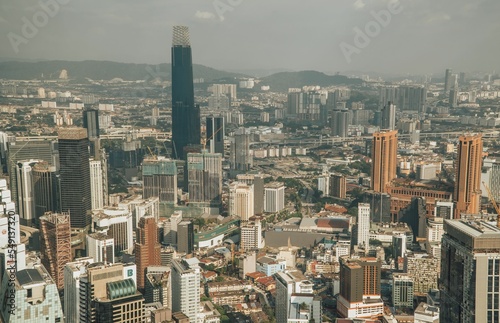
<path fill-rule="evenodd" d="M 55 166 L 46 161 L 36 163 L 32 168 L 33 193 L 35 195 L 35 223 L 45 212 L 59 212 L 61 208 L 61 191 L 59 175 Z"/>

